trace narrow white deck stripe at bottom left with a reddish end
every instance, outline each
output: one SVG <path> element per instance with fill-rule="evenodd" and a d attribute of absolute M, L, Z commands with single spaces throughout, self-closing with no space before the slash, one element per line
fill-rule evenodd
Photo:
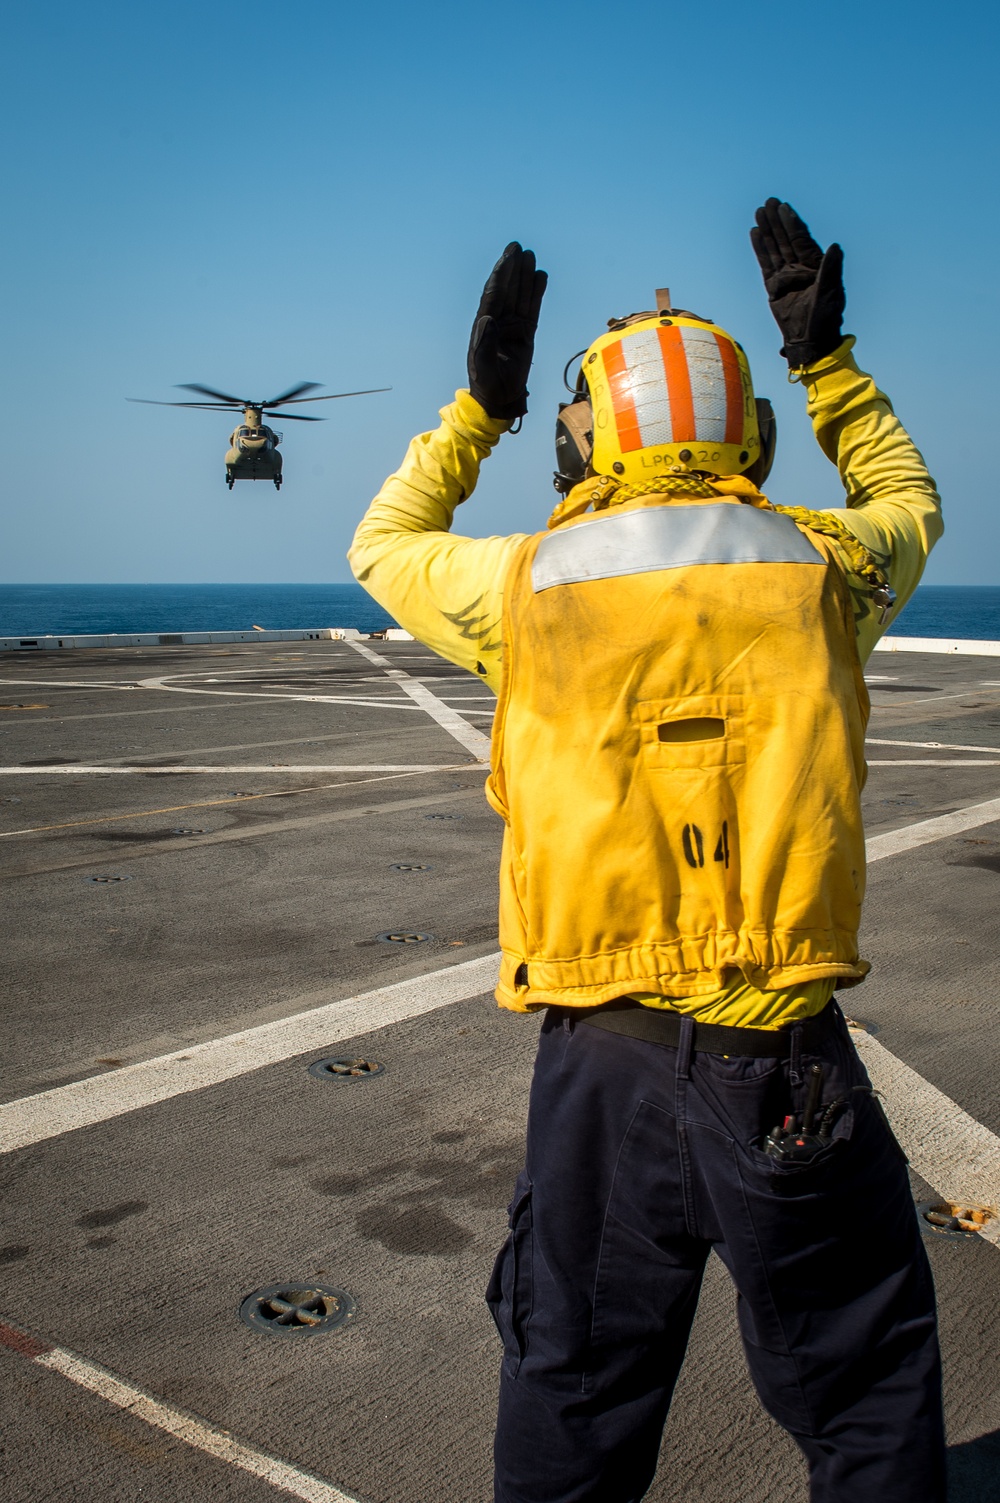
<path fill-rule="evenodd" d="M 305 1503 L 356 1503 L 349 1492 L 341 1492 L 331 1482 L 323 1482 L 322 1477 L 313 1476 L 310 1471 L 302 1471 L 287 1461 L 269 1456 L 265 1450 L 233 1440 L 227 1431 L 217 1429 L 203 1419 L 195 1419 L 194 1414 L 185 1414 L 183 1410 L 155 1399 L 152 1393 L 135 1387 L 134 1383 L 125 1383 L 107 1368 L 89 1362 L 86 1357 L 78 1357 L 65 1347 L 53 1347 L 50 1351 L 39 1353 L 33 1360 L 39 1368 L 62 1374 L 71 1383 L 96 1393 L 98 1398 L 134 1414 L 135 1419 L 165 1431 L 174 1440 L 182 1440 L 186 1446 L 203 1450 L 208 1456 L 230 1467 L 239 1467 L 241 1471 L 248 1471 L 253 1477 L 260 1477 L 262 1482 L 269 1482 L 295 1498 L 305 1498 Z"/>

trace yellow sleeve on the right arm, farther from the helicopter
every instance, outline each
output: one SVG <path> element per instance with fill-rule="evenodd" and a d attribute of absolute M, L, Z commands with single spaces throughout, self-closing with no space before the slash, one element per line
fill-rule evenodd
<path fill-rule="evenodd" d="M 859 592 L 857 646 L 865 663 L 920 582 L 944 531 L 941 497 L 916 443 L 871 376 L 859 370 L 848 337 L 802 376 L 820 448 L 841 472 L 847 511 L 838 516 L 875 555 L 896 592 L 884 622 Z"/>

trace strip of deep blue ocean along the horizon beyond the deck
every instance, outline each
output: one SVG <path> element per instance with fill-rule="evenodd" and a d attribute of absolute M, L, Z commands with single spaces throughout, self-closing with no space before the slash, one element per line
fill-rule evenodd
<path fill-rule="evenodd" d="M 355 627 L 392 618 L 361 585 L 0 585 L 0 637 Z M 1000 642 L 1000 586 L 922 585 L 890 636 Z"/>

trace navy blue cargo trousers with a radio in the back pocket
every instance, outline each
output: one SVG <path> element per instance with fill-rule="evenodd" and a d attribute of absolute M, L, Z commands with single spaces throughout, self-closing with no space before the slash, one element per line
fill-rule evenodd
<path fill-rule="evenodd" d="M 811 1064 L 824 1103 L 869 1084 L 844 1019 L 791 1063 L 692 1054 L 689 1040 L 546 1018 L 487 1291 L 504 1342 L 496 1503 L 642 1497 L 713 1247 L 812 1503 L 944 1503 L 934 1290 L 878 1103 L 854 1091 L 808 1166 L 762 1151 L 802 1112 Z"/>

